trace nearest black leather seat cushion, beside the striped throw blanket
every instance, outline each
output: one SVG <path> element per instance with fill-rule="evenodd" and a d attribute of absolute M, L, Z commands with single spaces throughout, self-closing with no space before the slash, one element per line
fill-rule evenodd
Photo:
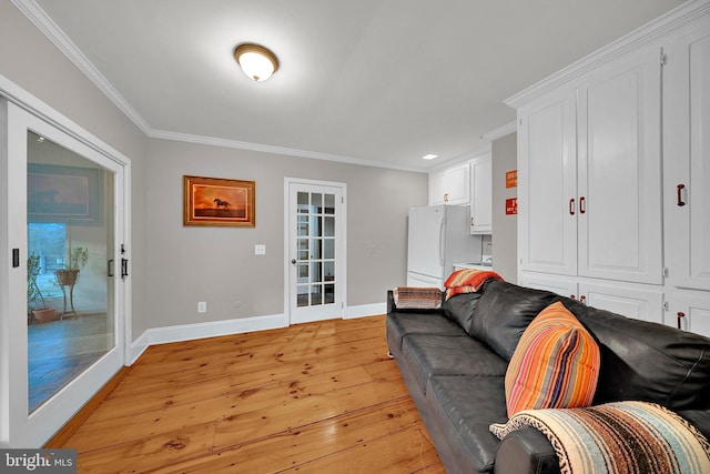
<path fill-rule="evenodd" d="M 504 423 L 503 376 L 434 376 L 426 393 L 426 410 L 437 451 L 447 472 L 493 472 L 498 438 L 488 426 Z"/>

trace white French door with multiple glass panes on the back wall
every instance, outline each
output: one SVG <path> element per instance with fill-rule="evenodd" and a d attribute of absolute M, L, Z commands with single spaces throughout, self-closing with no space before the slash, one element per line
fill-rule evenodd
<path fill-rule="evenodd" d="M 288 322 L 343 317 L 345 184 L 286 179 Z"/>

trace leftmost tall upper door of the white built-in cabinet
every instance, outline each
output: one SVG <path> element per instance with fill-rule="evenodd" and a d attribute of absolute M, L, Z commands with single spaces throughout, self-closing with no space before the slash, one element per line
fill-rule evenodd
<path fill-rule="evenodd" d="M 520 270 L 577 274 L 575 92 L 518 110 Z"/>

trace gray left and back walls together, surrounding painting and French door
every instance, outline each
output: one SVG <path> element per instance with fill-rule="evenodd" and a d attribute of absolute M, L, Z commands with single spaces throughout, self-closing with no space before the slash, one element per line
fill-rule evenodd
<path fill-rule="evenodd" d="M 9 1 L 0 18 L 0 74 L 131 160 L 134 339 L 283 312 L 284 177 L 347 183 L 348 305 L 382 303 L 406 283 L 407 210 L 426 205 L 426 174 L 148 139 Z M 183 228 L 183 174 L 256 181 L 256 229 Z"/>

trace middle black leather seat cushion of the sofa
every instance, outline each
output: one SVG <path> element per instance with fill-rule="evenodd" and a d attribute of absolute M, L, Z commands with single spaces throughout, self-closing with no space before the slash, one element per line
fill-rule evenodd
<path fill-rule="evenodd" d="M 426 381 L 434 375 L 505 376 L 506 361 L 466 334 L 407 335 L 402 347 L 405 363 L 415 367 L 417 386 L 426 391 Z M 504 392 L 500 393 L 504 397 Z"/>

